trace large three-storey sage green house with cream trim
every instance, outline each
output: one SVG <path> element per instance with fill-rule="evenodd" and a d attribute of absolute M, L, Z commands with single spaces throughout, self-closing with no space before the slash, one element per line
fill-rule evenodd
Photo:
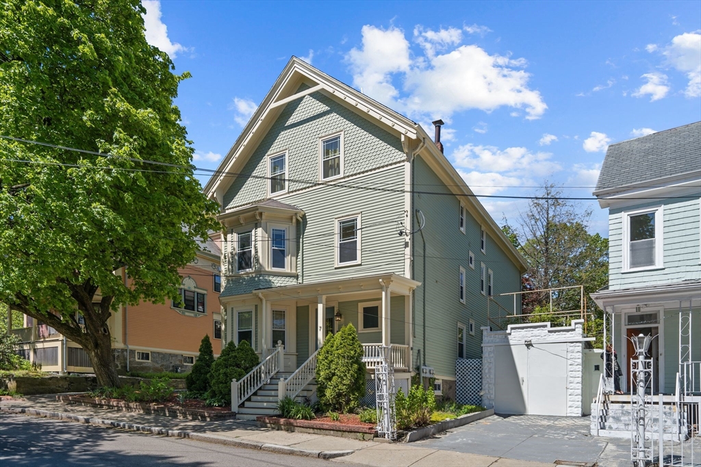
<path fill-rule="evenodd" d="M 222 206 L 224 338 L 261 358 L 284 345 L 292 379 L 352 323 L 369 375 L 391 345 L 395 380 L 425 365 L 454 397 L 488 296 L 526 269 L 440 141 L 294 57 L 205 192 Z"/>

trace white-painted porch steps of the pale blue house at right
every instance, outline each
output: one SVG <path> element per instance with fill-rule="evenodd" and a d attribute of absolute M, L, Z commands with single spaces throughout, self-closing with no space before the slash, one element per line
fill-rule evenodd
<path fill-rule="evenodd" d="M 624 396 L 625 397 L 625 396 Z M 632 429 L 635 428 L 631 414 L 630 396 L 618 396 L 615 401 L 605 400 L 601 403 L 601 414 L 597 419 L 597 404 L 592 403 L 592 415 L 590 430 L 592 435 L 597 435 L 597 424 L 599 426 L 599 436 L 609 438 L 630 438 Z M 648 412 L 652 425 L 653 439 L 659 438 L 660 407 L 658 404 L 651 405 Z M 662 404 L 662 437 L 665 440 L 686 439 L 687 433 L 682 433 L 683 428 L 679 422 L 679 415 L 676 412 L 676 405 Z"/>

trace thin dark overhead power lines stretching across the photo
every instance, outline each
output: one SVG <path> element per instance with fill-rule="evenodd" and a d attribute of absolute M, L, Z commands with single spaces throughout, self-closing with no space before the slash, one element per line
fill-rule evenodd
<path fill-rule="evenodd" d="M 20 138 L 15 138 L 15 137 L 7 137 L 4 135 L 0 135 L 0 138 L 4 139 L 9 139 L 12 141 L 19 141 L 22 143 L 27 143 L 27 144 L 38 144 L 40 146 L 48 146 L 51 148 L 57 148 L 57 149 L 62 149 L 64 151 L 76 151 L 80 153 L 88 153 L 88 154 L 93 154 L 93 155 L 100 155 L 102 157 L 106 158 L 116 158 L 116 159 L 121 159 L 121 160 L 130 160 L 132 162 L 140 162 L 140 163 L 145 163 L 145 164 L 154 164 L 154 165 L 163 165 L 167 167 L 174 167 L 174 168 L 182 168 L 182 169 L 188 169 L 189 171 L 192 172 L 207 172 L 212 175 L 219 174 L 219 175 L 224 175 L 224 176 L 232 176 L 232 177 L 245 177 L 245 178 L 252 178 L 252 179 L 264 179 L 264 180 L 271 180 L 273 177 L 270 176 L 261 176 L 261 175 L 254 175 L 254 174 L 243 174 L 243 173 L 237 173 L 237 172 L 226 172 L 218 169 L 204 169 L 202 167 L 195 167 L 195 166 L 186 166 L 186 165 L 177 165 L 177 164 L 171 164 L 169 162 L 158 162 L 154 160 L 146 160 L 146 159 L 139 159 L 139 158 L 127 158 L 127 157 L 121 157 L 109 153 L 100 153 L 97 151 L 87 151 L 84 149 L 78 149 L 78 148 L 71 148 L 69 146 L 59 146 L 55 144 L 50 144 L 50 143 L 44 143 L 41 141 L 32 141 L 29 139 L 20 139 Z M 92 166 L 92 165 L 79 165 L 79 164 L 64 164 L 60 162 L 43 162 L 43 161 L 33 161 L 33 160 L 21 160 L 21 159 L 0 159 L 0 160 L 5 160 L 8 162 L 24 162 L 24 163 L 34 163 L 34 164 L 41 164 L 41 165 L 58 165 L 58 166 L 66 166 L 66 167 L 84 167 L 84 168 L 93 168 L 93 169 L 113 169 L 113 170 L 124 170 L 128 172 L 153 172 L 153 173 L 167 173 L 167 174 L 177 174 L 178 172 L 170 172 L 170 171 L 156 171 L 156 170 L 148 170 L 148 169 L 128 169 L 128 168 L 122 168 L 122 167 L 99 167 L 99 166 Z M 189 175 L 189 172 L 185 173 L 186 175 Z M 443 196 L 457 196 L 457 197 L 484 197 L 484 198 L 500 198 L 500 199 L 514 199 L 514 200 L 573 200 L 573 201 L 595 201 L 597 200 L 596 197 L 538 197 L 538 196 L 517 196 L 517 195 L 475 195 L 474 193 L 472 194 L 455 194 L 455 193 L 440 193 L 440 192 L 430 192 L 430 191 L 423 191 L 423 190 L 400 190 L 400 189 L 393 189 L 393 188 L 378 188 L 378 187 L 372 187 L 372 186 L 358 186 L 358 185 L 347 185 L 344 183 L 334 183 L 334 182 L 324 182 L 324 181 L 310 181 L 310 180 L 304 180 L 304 179 L 275 179 L 275 180 L 285 180 L 285 181 L 290 181 L 294 183 L 305 183 L 308 184 L 309 186 L 307 188 L 311 188 L 313 186 L 336 186 L 336 187 L 341 187 L 341 188 L 352 188 L 352 189 L 357 189 L 357 190 L 373 190 L 373 191 L 381 191 L 381 192 L 388 192 L 388 193 L 413 193 L 413 194 L 419 194 L 419 195 L 443 195 Z M 404 183 L 402 183 L 403 185 Z M 453 186 L 453 185 L 446 185 L 446 186 Z M 461 186 L 461 185 L 459 185 Z M 524 188 L 524 187 L 519 187 L 519 186 L 503 186 L 501 188 Z M 538 187 L 540 188 L 540 187 Z M 625 198 L 620 198 L 622 200 L 660 200 L 660 199 L 686 199 L 688 196 L 674 196 L 674 197 L 625 197 Z M 611 197 L 608 198 L 609 200 L 617 200 L 618 198 Z"/>

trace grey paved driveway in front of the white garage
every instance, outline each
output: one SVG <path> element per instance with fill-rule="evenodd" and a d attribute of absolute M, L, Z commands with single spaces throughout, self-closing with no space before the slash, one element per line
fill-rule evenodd
<path fill-rule="evenodd" d="M 597 461 L 602 467 L 628 467 L 630 441 L 594 437 L 589 424 L 589 417 L 493 415 L 412 444 L 522 461 Z"/>

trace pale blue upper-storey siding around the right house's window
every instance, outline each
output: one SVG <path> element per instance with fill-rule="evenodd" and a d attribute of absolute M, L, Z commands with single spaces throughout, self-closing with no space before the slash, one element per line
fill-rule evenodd
<path fill-rule="evenodd" d="M 611 290 L 701 279 L 699 197 L 666 200 L 662 207 L 664 269 L 623 272 L 622 223 L 625 212 L 659 205 L 659 202 L 649 202 L 635 207 L 609 210 L 609 288 Z"/>

